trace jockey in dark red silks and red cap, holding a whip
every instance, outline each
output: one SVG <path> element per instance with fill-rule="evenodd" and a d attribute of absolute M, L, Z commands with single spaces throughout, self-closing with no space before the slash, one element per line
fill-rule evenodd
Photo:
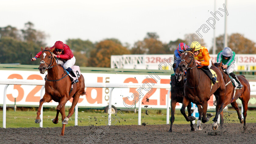
<path fill-rule="evenodd" d="M 58 59 L 57 63 L 62 65 L 63 68 L 66 69 L 67 72 L 71 74 L 71 76 L 76 77 L 74 71 L 71 69 L 71 67 L 75 64 L 76 58 L 74 57 L 73 52 L 70 50 L 69 46 L 64 44 L 62 41 L 56 41 L 53 47 L 50 47 L 50 49 L 54 48 L 52 56 L 56 57 Z M 42 54 L 42 51 L 36 54 L 34 58 L 31 59 L 31 61 L 35 61 L 37 58 L 40 58 L 40 55 Z M 74 80 L 73 83 L 79 82 L 78 79 Z M 72 84 L 73 84 L 72 83 Z"/>

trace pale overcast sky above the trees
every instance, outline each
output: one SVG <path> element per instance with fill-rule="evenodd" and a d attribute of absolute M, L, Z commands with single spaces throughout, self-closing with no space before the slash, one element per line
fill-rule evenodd
<path fill-rule="evenodd" d="M 67 39 L 100 41 L 117 38 L 131 46 L 143 40 L 147 32 L 156 32 L 159 40 L 184 38 L 206 24 L 210 30 L 202 38 L 212 47 L 213 29 L 206 23 L 214 12 L 214 0 L 0 0 L 0 27 L 11 25 L 23 29 L 28 21 L 45 32 L 48 46 Z M 215 36 L 224 33 L 225 0 L 216 2 Z M 241 33 L 256 42 L 256 1 L 227 0 L 227 33 Z"/>

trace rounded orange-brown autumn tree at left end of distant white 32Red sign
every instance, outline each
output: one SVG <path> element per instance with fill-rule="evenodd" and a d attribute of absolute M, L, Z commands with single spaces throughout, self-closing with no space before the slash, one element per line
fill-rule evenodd
<path fill-rule="evenodd" d="M 95 49 L 91 51 L 88 60 L 88 66 L 110 68 L 111 55 L 130 54 L 130 51 L 121 44 L 112 40 L 103 40 L 96 44 Z"/>

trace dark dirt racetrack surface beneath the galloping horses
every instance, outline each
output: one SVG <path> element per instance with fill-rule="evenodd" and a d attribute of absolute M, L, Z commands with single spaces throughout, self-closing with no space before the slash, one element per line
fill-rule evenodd
<path fill-rule="evenodd" d="M 167 132 L 169 125 L 69 126 L 64 136 L 59 136 L 60 127 L 0 128 L 0 143 L 256 143 L 256 123 L 247 123 L 246 130 L 243 124 L 238 123 L 226 123 L 223 129 L 218 128 L 217 131 L 212 130 L 212 124 L 202 126 L 203 130 L 195 132 L 190 132 L 188 124 L 173 125 L 173 132 Z M 96 132 L 100 137 L 96 136 Z"/>

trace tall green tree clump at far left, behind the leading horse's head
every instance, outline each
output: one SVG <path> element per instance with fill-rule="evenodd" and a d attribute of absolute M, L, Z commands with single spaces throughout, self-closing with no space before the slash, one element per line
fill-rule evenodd
<path fill-rule="evenodd" d="M 33 23 L 26 23 L 27 30 L 18 30 L 12 26 L 0 28 L 0 63 L 20 63 L 23 65 L 38 63 L 30 61 L 30 53 L 40 51 L 45 47 L 45 34 L 32 29 Z"/>

